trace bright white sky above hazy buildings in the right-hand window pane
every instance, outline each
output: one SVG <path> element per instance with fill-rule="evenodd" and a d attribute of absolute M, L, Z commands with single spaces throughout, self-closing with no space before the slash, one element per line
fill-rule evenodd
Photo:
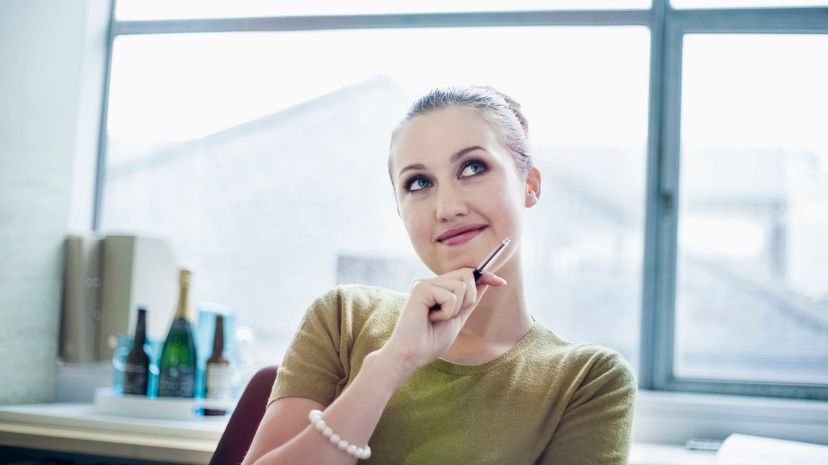
<path fill-rule="evenodd" d="M 810 151 L 828 164 L 825 57 L 826 35 L 685 37 L 683 142 Z"/>

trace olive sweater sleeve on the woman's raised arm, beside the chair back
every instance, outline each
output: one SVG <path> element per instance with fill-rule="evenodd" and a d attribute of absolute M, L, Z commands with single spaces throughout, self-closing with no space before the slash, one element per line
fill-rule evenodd
<path fill-rule="evenodd" d="M 337 385 L 345 378 L 339 358 L 340 300 L 339 289 L 334 288 L 305 311 L 277 371 L 268 407 L 283 397 L 303 397 L 323 405 L 333 402 Z"/>

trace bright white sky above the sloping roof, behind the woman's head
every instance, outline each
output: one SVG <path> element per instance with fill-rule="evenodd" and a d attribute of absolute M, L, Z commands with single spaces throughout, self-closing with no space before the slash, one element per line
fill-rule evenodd
<path fill-rule="evenodd" d="M 109 132 L 198 137 L 385 74 L 415 94 L 492 85 L 521 102 L 535 142 L 643 146 L 648 43 L 643 27 L 121 37 Z"/>

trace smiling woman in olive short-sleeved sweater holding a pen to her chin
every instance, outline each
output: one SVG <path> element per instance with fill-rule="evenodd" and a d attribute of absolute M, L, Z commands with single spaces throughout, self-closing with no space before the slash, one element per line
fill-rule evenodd
<path fill-rule="evenodd" d="M 629 366 L 526 308 L 520 238 L 541 192 L 527 132 L 519 105 L 489 87 L 436 89 L 412 106 L 389 175 L 436 276 L 409 294 L 341 285 L 317 298 L 245 464 L 626 463 Z"/>

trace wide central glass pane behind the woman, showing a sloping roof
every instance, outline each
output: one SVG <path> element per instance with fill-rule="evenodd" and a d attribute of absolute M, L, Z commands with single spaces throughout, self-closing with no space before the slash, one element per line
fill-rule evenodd
<path fill-rule="evenodd" d="M 543 173 L 532 314 L 635 364 L 648 44 L 641 27 L 119 37 L 102 229 L 171 238 L 194 299 L 234 308 L 274 363 L 338 282 L 430 275 L 396 213 L 390 134 L 428 89 L 485 83 L 521 102 Z"/>

